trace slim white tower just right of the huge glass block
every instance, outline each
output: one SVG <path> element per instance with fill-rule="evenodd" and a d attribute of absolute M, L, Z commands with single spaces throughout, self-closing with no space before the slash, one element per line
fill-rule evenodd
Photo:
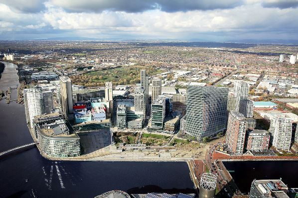
<path fill-rule="evenodd" d="M 234 82 L 235 110 L 239 112 L 240 100 L 248 99 L 249 84 L 244 81 Z"/>

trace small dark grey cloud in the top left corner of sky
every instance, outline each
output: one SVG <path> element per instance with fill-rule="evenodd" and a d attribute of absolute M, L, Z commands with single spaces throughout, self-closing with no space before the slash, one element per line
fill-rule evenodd
<path fill-rule="evenodd" d="M 45 8 L 45 0 L 0 0 L 0 3 L 9 6 L 17 12 L 40 12 Z"/>

